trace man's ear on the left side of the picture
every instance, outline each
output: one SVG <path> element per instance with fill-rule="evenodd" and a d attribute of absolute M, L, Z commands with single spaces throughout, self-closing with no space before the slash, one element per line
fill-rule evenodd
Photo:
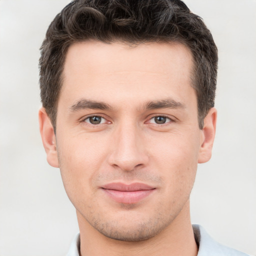
<path fill-rule="evenodd" d="M 47 155 L 47 162 L 53 167 L 58 167 L 56 138 L 53 126 L 44 107 L 39 109 L 38 117 L 42 144 Z"/>

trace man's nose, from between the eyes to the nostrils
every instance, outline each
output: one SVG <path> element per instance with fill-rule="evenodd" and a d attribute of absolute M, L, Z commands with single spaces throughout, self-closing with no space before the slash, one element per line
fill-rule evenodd
<path fill-rule="evenodd" d="M 111 153 L 108 158 L 110 165 L 125 171 L 145 166 L 148 154 L 142 130 L 135 125 L 120 125 L 114 131 L 110 142 Z"/>

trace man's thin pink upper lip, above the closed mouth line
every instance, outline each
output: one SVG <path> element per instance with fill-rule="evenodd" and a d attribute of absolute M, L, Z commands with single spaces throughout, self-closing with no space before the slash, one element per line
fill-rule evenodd
<path fill-rule="evenodd" d="M 155 187 L 152 187 L 150 185 L 140 183 L 140 182 L 135 182 L 131 184 L 124 184 L 121 182 L 112 182 L 112 183 L 103 185 L 102 188 L 118 190 L 118 191 L 138 191 L 138 190 L 150 190 L 150 189 L 154 189 Z"/>

